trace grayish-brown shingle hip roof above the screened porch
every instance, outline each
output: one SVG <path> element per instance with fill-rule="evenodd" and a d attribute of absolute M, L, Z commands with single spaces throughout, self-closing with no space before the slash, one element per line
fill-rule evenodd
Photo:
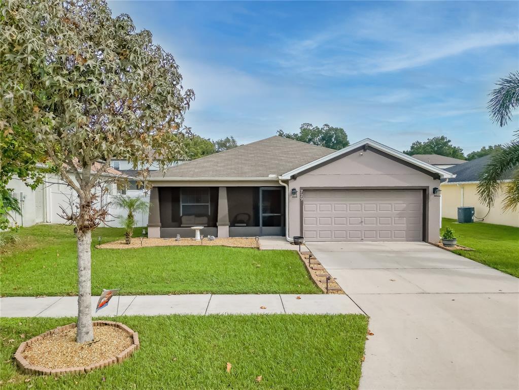
<path fill-rule="evenodd" d="M 198 158 L 171 167 L 166 172 L 156 171 L 150 177 L 268 177 L 279 176 L 317 158 L 335 152 L 327 147 L 274 136 L 249 143 L 225 152 Z"/>

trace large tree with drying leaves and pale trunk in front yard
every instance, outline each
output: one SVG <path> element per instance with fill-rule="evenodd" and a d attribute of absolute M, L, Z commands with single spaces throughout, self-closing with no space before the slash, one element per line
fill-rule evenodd
<path fill-rule="evenodd" d="M 162 166 L 183 157 L 194 93 L 183 90 L 179 66 L 152 34 L 136 32 L 128 15 L 113 18 L 102 0 L 0 7 L 2 132 L 31 131 L 77 193 L 67 214 L 77 232 L 76 340 L 91 341 L 91 231 L 106 218 L 94 188 L 113 156 L 135 167 L 152 150 Z"/>

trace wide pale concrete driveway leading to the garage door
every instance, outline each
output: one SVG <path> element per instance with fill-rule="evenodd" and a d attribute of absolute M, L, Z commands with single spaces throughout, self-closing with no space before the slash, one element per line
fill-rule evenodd
<path fill-rule="evenodd" d="M 519 279 L 426 243 L 307 246 L 370 316 L 361 389 L 519 388 Z"/>

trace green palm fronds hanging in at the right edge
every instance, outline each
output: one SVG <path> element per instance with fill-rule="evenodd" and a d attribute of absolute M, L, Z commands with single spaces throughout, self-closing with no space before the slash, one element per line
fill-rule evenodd
<path fill-rule="evenodd" d="M 512 119 L 512 111 L 519 107 L 519 71 L 501 78 L 496 85 L 498 88 L 490 92 L 488 110 L 493 122 L 503 127 Z M 516 210 L 519 206 L 519 130 L 515 134 L 514 140 L 490 158 L 477 184 L 477 193 L 488 207 L 494 205 L 500 179 L 509 170 L 512 170 L 512 181 L 503 191 L 503 210 Z"/>

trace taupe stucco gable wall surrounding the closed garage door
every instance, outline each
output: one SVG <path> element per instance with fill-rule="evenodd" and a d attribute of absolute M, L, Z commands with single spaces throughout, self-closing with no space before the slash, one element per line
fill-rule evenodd
<path fill-rule="evenodd" d="M 289 235 L 301 234 L 299 194 L 302 188 L 420 188 L 426 190 L 427 236 L 424 238 L 435 243 L 440 238 L 440 197 L 433 196 L 432 189 L 439 186 L 440 180 L 373 151 L 354 152 L 289 181 L 289 194 L 294 187 L 298 193 L 297 198 L 289 195 Z"/>

